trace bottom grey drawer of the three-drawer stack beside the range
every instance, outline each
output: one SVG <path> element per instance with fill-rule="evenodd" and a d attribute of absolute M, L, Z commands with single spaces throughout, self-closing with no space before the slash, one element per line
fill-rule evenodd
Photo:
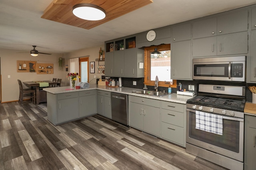
<path fill-rule="evenodd" d="M 162 122 L 162 138 L 184 145 L 184 128 Z"/>

